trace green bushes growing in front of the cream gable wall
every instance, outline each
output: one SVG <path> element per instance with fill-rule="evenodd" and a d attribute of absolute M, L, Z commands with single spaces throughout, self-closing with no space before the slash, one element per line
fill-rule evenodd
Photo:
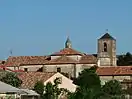
<path fill-rule="evenodd" d="M 68 93 L 66 89 L 58 88 L 59 84 L 61 84 L 60 78 L 56 78 L 54 84 L 48 82 L 45 86 L 42 82 L 37 82 L 34 90 L 40 94 L 41 99 L 58 99 L 60 95 Z"/>

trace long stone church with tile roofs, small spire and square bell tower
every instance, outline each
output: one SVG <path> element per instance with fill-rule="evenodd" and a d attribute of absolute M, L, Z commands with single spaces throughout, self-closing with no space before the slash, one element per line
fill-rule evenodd
<path fill-rule="evenodd" d="M 47 56 L 10 56 L 4 65 L 16 71 L 64 72 L 72 77 L 78 77 L 79 72 L 92 66 L 116 66 L 116 40 L 107 31 L 97 43 L 96 57 L 72 48 L 68 37 L 65 48 L 58 52 Z"/>

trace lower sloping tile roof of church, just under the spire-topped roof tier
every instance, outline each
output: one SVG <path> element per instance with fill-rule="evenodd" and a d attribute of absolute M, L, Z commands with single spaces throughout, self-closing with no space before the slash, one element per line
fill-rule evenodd
<path fill-rule="evenodd" d="M 78 61 L 71 59 L 67 56 L 60 56 L 59 58 L 48 61 L 45 64 L 75 64 L 75 63 L 78 63 Z"/>

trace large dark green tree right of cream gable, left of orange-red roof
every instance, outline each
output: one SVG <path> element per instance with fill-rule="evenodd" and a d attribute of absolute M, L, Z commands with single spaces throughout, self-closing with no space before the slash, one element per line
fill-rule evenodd
<path fill-rule="evenodd" d="M 75 84 L 84 88 L 97 88 L 101 87 L 100 78 L 96 74 L 96 68 L 84 69 L 79 77 L 74 81 Z"/>

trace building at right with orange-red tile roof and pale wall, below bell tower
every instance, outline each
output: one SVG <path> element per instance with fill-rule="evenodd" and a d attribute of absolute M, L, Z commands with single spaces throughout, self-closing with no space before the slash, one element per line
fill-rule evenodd
<path fill-rule="evenodd" d="M 132 66 L 104 66 L 97 68 L 97 74 L 99 75 L 102 85 L 109 80 L 116 79 L 125 85 L 131 84 L 132 81 Z"/>

